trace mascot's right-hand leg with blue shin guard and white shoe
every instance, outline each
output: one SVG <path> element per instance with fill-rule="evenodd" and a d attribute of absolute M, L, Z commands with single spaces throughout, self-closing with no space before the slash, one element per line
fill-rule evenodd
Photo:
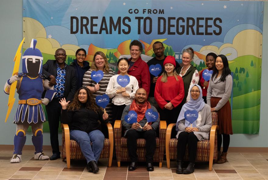
<path fill-rule="evenodd" d="M 34 159 L 47 160 L 49 157 L 43 153 L 43 130 L 37 129 L 32 135 L 32 142 L 35 148 Z"/>

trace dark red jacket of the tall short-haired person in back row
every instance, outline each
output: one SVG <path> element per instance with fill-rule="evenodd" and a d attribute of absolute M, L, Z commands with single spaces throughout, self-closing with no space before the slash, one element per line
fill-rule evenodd
<path fill-rule="evenodd" d="M 131 61 L 132 58 L 129 59 Z M 118 74 L 120 71 L 118 71 Z M 149 66 L 145 61 L 141 59 L 139 56 L 139 59 L 135 61 L 133 66 L 129 68 L 128 74 L 131 76 L 136 77 L 139 83 L 139 88 L 143 88 L 147 92 L 147 98 L 150 92 L 150 71 L 149 71 Z"/>

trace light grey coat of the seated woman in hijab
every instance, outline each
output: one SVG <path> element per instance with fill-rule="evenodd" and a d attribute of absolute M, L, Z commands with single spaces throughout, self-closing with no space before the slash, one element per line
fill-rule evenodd
<path fill-rule="evenodd" d="M 200 111 L 201 114 L 201 126 L 198 127 L 199 131 L 194 131 L 194 134 L 196 135 L 197 139 L 199 141 L 204 139 L 209 139 L 209 132 L 212 125 L 212 118 L 211 118 L 211 108 L 209 105 L 205 104 L 204 108 Z M 182 131 L 185 131 L 186 126 L 185 119 L 182 121 L 179 121 L 178 123 L 178 133 L 176 135 L 176 138 L 178 139 L 179 134 Z"/>

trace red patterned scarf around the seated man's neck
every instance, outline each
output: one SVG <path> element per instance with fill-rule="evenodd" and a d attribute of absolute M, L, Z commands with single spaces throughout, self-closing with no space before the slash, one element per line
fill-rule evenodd
<path fill-rule="evenodd" d="M 147 109 L 151 109 L 151 104 L 147 100 L 143 104 L 137 104 L 136 99 L 134 99 L 129 107 L 129 110 L 134 110 L 137 113 L 137 122 L 143 120 Z M 152 124 L 152 122 L 148 124 Z"/>

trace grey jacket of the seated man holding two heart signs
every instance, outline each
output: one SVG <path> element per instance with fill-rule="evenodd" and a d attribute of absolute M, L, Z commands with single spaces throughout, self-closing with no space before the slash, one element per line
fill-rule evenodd
<path fill-rule="evenodd" d="M 130 104 L 131 105 L 131 104 Z M 125 107 L 125 109 L 123 110 L 123 113 L 122 113 L 122 117 L 121 117 L 121 122 L 122 122 L 122 126 L 125 128 L 125 134 L 124 136 L 126 135 L 127 131 L 129 129 L 131 129 L 131 126 L 132 124 L 128 124 L 127 122 L 125 122 L 125 115 L 127 115 L 129 113 L 129 107 L 130 105 L 127 105 Z M 151 109 L 154 111 L 154 112 L 157 112 L 156 108 L 154 106 L 151 105 Z M 146 120 L 146 117 L 144 116 L 143 120 L 139 121 L 139 124 L 141 125 L 141 127 L 143 127 L 145 124 L 146 124 L 147 120 Z M 158 116 L 157 120 L 152 122 L 151 126 L 153 128 L 153 130 L 157 130 L 158 127 L 159 127 L 159 122 L 160 122 L 160 118 Z M 143 131 L 143 129 L 138 129 L 137 131 Z"/>

